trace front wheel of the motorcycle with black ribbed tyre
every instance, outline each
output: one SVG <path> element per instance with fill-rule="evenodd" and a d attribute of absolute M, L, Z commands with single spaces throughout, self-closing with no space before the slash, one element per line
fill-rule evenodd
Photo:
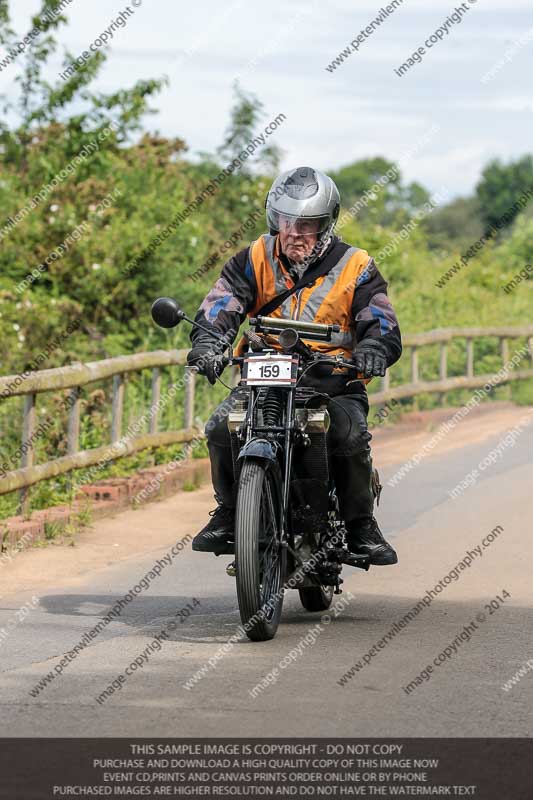
<path fill-rule="evenodd" d="M 272 639 L 281 617 L 286 552 L 281 516 L 277 464 L 245 461 L 235 514 L 235 563 L 241 621 L 254 642 Z"/>

